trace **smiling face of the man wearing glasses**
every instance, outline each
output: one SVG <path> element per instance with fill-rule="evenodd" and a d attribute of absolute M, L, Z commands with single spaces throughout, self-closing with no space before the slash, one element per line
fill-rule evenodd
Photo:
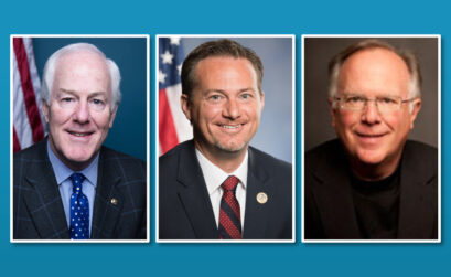
<path fill-rule="evenodd" d="M 376 97 L 410 97 L 410 73 L 397 54 L 385 49 L 368 49 L 352 54 L 339 75 L 337 97 L 358 94 Z M 333 126 L 355 161 L 378 164 L 399 160 L 404 145 L 420 108 L 420 99 L 401 104 L 399 110 L 380 113 L 375 102 L 364 110 L 332 108 Z M 412 105 L 412 110 L 409 110 Z"/>

